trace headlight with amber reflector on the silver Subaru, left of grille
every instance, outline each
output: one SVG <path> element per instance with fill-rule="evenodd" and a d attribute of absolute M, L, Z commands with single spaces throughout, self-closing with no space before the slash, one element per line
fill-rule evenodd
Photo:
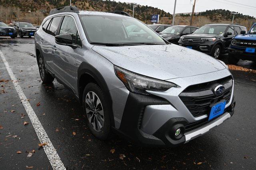
<path fill-rule="evenodd" d="M 174 83 L 153 79 L 138 75 L 120 67 L 114 66 L 116 76 L 124 83 L 126 88 L 132 93 L 148 95 L 149 91 L 166 91 L 171 87 L 177 87 Z"/>

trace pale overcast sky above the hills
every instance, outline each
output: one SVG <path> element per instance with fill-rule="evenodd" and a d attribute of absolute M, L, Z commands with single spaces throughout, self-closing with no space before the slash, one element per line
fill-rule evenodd
<path fill-rule="evenodd" d="M 175 0 L 115 0 L 157 7 L 173 14 Z M 177 0 L 176 13 L 192 12 L 194 0 Z M 195 12 L 225 9 L 256 17 L 256 0 L 196 0 Z"/>

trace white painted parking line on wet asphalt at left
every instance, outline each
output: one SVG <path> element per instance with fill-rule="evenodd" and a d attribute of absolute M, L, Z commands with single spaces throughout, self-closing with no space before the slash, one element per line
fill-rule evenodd
<path fill-rule="evenodd" d="M 36 116 L 36 113 L 32 109 L 30 103 L 27 101 L 27 98 L 25 94 L 23 93 L 16 77 L 14 76 L 12 69 L 10 68 L 8 62 L 6 61 L 4 54 L 0 50 L 0 56 L 4 62 L 4 65 L 12 79 L 12 83 L 14 84 L 14 87 L 20 97 L 20 100 L 22 101 L 22 104 L 24 105 L 26 112 L 28 113 L 28 117 L 36 131 L 36 134 L 40 140 L 41 143 L 47 142 L 48 144 L 44 146 L 44 152 L 46 153 L 50 164 L 52 165 L 53 169 L 58 169 L 58 170 L 66 170 L 64 167 L 64 164 L 60 160 L 60 156 L 56 152 L 54 146 L 52 145 L 52 142 L 50 141 L 48 135 L 46 134 L 44 128 L 42 127 L 42 124 L 38 120 L 38 117 Z"/>

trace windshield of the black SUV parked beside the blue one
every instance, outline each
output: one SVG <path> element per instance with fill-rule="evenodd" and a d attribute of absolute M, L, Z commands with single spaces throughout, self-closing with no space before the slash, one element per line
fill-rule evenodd
<path fill-rule="evenodd" d="M 227 26 L 202 26 L 194 34 L 223 34 Z"/>

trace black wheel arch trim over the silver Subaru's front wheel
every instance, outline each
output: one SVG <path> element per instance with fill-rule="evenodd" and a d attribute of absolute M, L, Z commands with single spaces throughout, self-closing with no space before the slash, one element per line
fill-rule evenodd
<path fill-rule="evenodd" d="M 92 65 L 90 65 L 89 63 L 86 62 L 82 62 L 78 68 L 77 71 L 77 75 L 78 75 L 78 79 L 77 79 L 77 91 L 78 91 L 78 96 L 79 96 L 79 101 L 80 104 L 82 104 L 82 94 L 83 91 L 80 91 L 80 78 L 82 77 L 82 75 L 87 74 L 90 75 L 95 81 L 96 83 L 100 86 L 100 88 L 102 89 L 102 91 L 105 93 L 106 97 L 108 98 L 108 101 L 106 101 L 111 107 L 111 113 L 110 113 L 110 123 L 112 127 L 114 126 L 114 114 L 113 114 L 113 107 L 112 107 L 112 98 L 108 89 L 108 85 L 104 79 L 104 77 L 102 76 L 102 74 Z"/>

